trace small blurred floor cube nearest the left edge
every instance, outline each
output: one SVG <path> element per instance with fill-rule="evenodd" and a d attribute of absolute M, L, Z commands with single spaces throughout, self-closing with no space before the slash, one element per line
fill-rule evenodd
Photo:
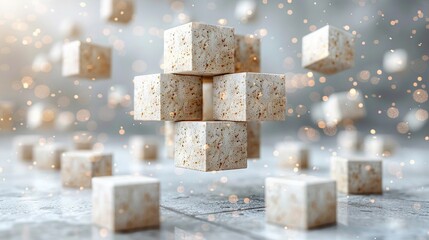
<path fill-rule="evenodd" d="M 40 136 L 22 135 L 16 136 L 13 145 L 17 158 L 24 161 L 33 160 L 33 148 L 39 144 Z"/>

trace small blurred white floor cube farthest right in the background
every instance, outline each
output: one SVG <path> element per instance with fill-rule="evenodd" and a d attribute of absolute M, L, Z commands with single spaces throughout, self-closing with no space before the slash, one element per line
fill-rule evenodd
<path fill-rule="evenodd" d="M 364 141 L 364 151 L 367 155 L 376 157 L 390 157 L 395 153 L 397 143 L 391 135 L 368 135 Z"/>

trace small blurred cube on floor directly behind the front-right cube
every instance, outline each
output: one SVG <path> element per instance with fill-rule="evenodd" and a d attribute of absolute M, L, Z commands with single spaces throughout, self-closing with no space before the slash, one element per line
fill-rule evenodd
<path fill-rule="evenodd" d="M 310 151 L 305 143 L 286 141 L 277 143 L 274 156 L 284 168 L 306 169 L 309 165 Z"/>

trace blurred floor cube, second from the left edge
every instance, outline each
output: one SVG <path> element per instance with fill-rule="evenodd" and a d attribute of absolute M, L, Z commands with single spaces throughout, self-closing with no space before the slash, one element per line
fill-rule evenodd
<path fill-rule="evenodd" d="M 41 169 L 60 169 L 61 155 L 67 151 L 65 146 L 59 144 L 39 145 L 33 148 L 33 160 Z"/>

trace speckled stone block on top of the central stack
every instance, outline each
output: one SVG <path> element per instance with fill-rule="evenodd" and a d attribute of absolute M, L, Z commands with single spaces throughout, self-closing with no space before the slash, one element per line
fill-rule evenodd
<path fill-rule="evenodd" d="M 214 76 L 234 72 L 234 29 L 187 23 L 164 32 L 164 73 Z"/>

